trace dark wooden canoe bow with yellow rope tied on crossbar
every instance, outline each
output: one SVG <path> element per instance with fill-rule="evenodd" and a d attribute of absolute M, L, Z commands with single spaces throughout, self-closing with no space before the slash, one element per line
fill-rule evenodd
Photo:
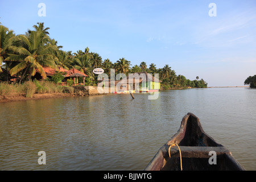
<path fill-rule="evenodd" d="M 170 148 L 172 143 L 176 143 L 180 150 L 177 146 Z M 210 151 L 216 152 L 215 155 Z M 181 170 L 180 152 L 183 170 L 245 170 L 227 148 L 204 132 L 199 118 L 192 113 L 183 117 L 180 129 L 160 148 L 144 170 L 179 171 Z M 214 162 L 216 164 L 212 163 L 213 158 L 216 159 Z"/>

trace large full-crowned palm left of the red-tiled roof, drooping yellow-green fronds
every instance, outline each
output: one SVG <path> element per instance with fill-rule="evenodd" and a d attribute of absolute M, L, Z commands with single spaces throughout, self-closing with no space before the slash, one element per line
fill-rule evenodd
<path fill-rule="evenodd" d="M 20 82 L 24 76 L 29 73 L 28 80 L 34 76 L 36 72 L 46 78 L 43 67 L 51 67 L 57 69 L 55 64 L 53 51 L 58 48 L 56 45 L 42 44 L 46 40 L 46 36 L 42 31 L 30 31 L 26 35 L 19 35 L 21 46 L 10 46 L 9 49 L 14 53 L 10 53 L 5 60 L 18 62 L 10 71 L 11 76 L 22 72 Z M 49 39 L 47 40 L 49 41 Z"/>

